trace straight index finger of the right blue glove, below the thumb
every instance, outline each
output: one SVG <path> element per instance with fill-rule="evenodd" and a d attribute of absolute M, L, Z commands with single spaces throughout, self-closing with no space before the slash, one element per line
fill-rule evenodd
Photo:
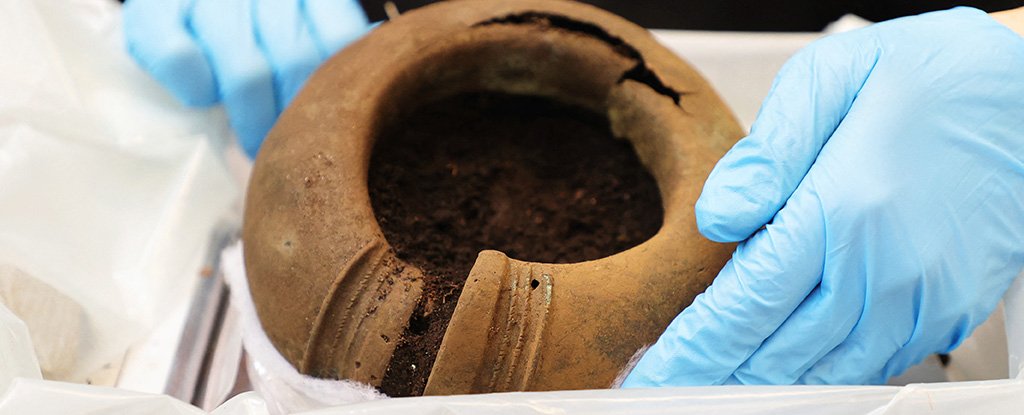
<path fill-rule="evenodd" d="M 740 243 L 712 286 L 672 322 L 623 386 L 726 381 L 817 286 L 824 243 L 819 206 L 815 195 L 800 192 L 775 222 Z M 806 220 L 809 214 L 814 219 Z"/>

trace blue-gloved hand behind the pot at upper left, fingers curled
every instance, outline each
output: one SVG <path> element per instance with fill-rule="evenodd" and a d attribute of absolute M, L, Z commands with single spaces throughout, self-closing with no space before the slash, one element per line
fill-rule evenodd
<path fill-rule="evenodd" d="M 178 99 L 223 101 L 250 157 L 316 67 L 369 30 L 355 0 L 128 0 L 124 25 Z"/>

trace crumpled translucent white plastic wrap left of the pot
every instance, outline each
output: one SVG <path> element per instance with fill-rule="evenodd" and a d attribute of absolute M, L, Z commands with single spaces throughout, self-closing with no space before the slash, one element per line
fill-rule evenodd
<path fill-rule="evenodd" d="M 190 294 L 240 194 L 227 130 L 136 68 L 118 3 L 0 1 L 0 301 L 84 382 Z"/>

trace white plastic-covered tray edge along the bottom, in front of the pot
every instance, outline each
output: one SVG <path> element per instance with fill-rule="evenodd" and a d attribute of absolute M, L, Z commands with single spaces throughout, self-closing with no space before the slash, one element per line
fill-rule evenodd
<path fill-rule="evenodd" d="M 403 398 L 317 415 L 964 415 L 1019 414 L 1024 381 L 897 386 L 706 386 Z"/>

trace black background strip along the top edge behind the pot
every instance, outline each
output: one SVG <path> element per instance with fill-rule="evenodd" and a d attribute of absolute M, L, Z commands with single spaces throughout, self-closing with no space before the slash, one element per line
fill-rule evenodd
<path fill-rule="evenodd" d="M 399 11 L 437 0 L 393 0 Z M 386 0 L 360 0 L 373 22 L 386 18 Z M 956 5 L 998 11 L 1024 5 L 1024 0 L 584 0 L 645 28 L 729 31 L 820 31 L 846 13 L 885 20 Z"/>

